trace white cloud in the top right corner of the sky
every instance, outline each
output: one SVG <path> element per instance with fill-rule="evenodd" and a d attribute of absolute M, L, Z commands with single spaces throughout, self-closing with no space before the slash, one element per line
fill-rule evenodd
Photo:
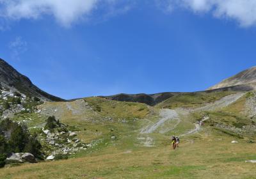
<path fill-rule="evenodd" d="M 212 13 L 216 18 L 237 20 L 243 27 L 256 25 L 256 0 L 168 0 L 195 13 Z"/>

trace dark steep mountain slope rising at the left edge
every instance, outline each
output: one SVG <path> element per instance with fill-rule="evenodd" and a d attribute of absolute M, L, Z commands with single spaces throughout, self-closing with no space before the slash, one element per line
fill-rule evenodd
<path fill-rule="evenodd" d="M 28 77 L 20 74 L 6 61 L 0 58 L 0 84 L 4 88 L 19 91 L 31 97 L 39 97 L 44 100 L 63 101 L 36 87 Z"/>

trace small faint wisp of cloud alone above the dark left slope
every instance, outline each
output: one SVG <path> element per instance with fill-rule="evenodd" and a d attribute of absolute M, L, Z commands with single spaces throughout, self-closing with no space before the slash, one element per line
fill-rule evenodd
<path fill-rule="evenodd" d="M 27 42 L 23 40 L 21 36 L 17 36 L 15 40 L 9 43 L 9 49 L 12 53 L 12 58 L 19 60 L 20 54 L 28 50 L 28 45 Z"/>

